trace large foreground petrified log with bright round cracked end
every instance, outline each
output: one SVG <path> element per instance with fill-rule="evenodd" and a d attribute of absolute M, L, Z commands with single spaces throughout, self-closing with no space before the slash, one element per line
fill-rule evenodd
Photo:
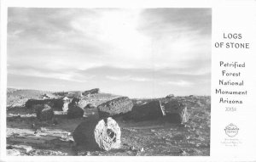
<path fill-rule="evenodd" d="M 120 147 L 121 131 L 118 123 L 111 117 L 103 120 L 82 122 L 73 132 L 73 139 L 78 146 L 88 149 L 110 150 Z"/>

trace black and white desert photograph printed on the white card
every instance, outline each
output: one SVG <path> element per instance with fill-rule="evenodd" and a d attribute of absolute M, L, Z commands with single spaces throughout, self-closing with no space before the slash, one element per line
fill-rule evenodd
<path fill-rule="evenodd" d="M 212 8 L 9 7 L 8 156 L 210 156 Z"/>

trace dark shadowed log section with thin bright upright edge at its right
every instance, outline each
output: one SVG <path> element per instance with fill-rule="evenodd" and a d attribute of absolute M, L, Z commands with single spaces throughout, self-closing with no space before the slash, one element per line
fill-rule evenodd
<path fill-rule="evenodd" d="M 159 100 L 136 105 L 132 108 L 131 119 L 133 120 L 157 120 L 162 118 L 165 112 Z"/>

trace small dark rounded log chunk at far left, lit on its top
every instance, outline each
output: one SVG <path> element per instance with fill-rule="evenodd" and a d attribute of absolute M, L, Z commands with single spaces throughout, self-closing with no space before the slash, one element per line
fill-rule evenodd
<path fill-rule="evenodd" d="M 55 115 L 53 109 L 48 104 L 38 104 L 36 112 L 38 120 L 52 120 Z"/>

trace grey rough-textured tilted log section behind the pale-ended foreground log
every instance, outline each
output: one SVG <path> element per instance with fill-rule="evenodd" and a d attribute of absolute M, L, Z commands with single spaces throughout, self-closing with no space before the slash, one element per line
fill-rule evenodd
<path fill-rule="evenodd" d="M 97 107 L 97 109 L 99 110 L 100 118 L 104 118 L 109 116 L 123 115 L 130 112 L 132 107 L 133 103 L 131 99 L 122 97 L 102 103 Z"/>

